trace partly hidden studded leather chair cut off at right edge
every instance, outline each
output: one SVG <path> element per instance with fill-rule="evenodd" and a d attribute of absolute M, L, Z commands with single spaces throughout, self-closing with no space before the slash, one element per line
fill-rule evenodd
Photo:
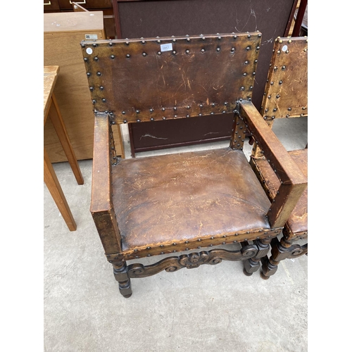
<path fill-rule="evenodd" d="M 278 37 L 275 40 L 260 113 L 270 128 L 277 118 L 308 117 L 307 37 Z M 308 177 L 307 146 L 305 149 L 289 151 L 289 155 L 306 177 Z M 253 147 L 250 163 L 269 199 L 275 199 L 279 179 L 256 145 Z M 299 239 L 308 239 L 308 188 L 287 219 L 282 234 L 280 241 L 276 237 L 271 242 L 270 259 L 265 256 L 261 260 L 260 274 L 263 279 L 275 274 L 280 260 L 308 253 L 308 243 L 294 244 Z"/>

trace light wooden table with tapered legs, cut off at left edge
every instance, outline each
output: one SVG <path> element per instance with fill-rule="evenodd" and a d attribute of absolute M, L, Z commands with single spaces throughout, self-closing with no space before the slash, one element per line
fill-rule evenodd
<path fill-rule="evenodd" d="M 77 183 L 83 184 L 84 181 L 80 166 L 77 163 L 75 152 L 73 151 L 73 148 L 70 144 L 70 139 L 68 138 L 68 134 L 63 123 L 63 118 L 61 117 L 58 103 L 54 95 L 54 87 L 58 77 L 58 71 L 58 66 L 44 66 L 44 127 L 49 116 L 51 122 L 54 125 L 56 133 L 58 134 L 58 139 L 60 140 L 61 145 L 63 146 L 63 150 L 65 151 L 65 154 L 68 158 L 68 162 L 71 165 Z M 63 215 L 63 219 L 68 225 L 68 229 L 70 231 L 75 231 L 77 229 L 75 219 L 73 218 L 70 207 L 68 206 L 68 202 L 65 199 L 65 195 L 63 194 L 63 190 L 61 189 L 61 185 L 58 182 L 58 178 L 56 177 L 56 173 L 51 165 L 50 158 L 48 153 L 46 153 L 45 148 L 44 182 L 46 187 L 48 187 L 51 196 L 56 203 L 56 206 L 58 206 L 61 215 Z"/>

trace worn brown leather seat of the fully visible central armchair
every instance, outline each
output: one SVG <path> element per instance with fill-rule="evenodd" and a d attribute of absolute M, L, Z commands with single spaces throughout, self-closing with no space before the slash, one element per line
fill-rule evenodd
<path fill-rule="evenodd" d="M 242 151 L 132 158 L 113 166 L 122 250 L 270 229 L 270 201 Z"/>

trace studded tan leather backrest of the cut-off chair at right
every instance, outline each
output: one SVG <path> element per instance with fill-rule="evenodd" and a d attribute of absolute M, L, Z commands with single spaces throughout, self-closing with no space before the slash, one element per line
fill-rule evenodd
<path fill-rule="evenodd" d="M 261 113 L 265 120 L 308 115 L 308 39 L 275 40 Z"/>

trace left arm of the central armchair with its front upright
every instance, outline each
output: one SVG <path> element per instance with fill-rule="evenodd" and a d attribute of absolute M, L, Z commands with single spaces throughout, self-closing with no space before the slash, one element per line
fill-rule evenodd
<path fill-rule="evenodd" d="M 106 254 L 121 251 L 121 237 L 111 189 L 111 125 L 107 114 L 95 115 L 90 211 Z"/>

